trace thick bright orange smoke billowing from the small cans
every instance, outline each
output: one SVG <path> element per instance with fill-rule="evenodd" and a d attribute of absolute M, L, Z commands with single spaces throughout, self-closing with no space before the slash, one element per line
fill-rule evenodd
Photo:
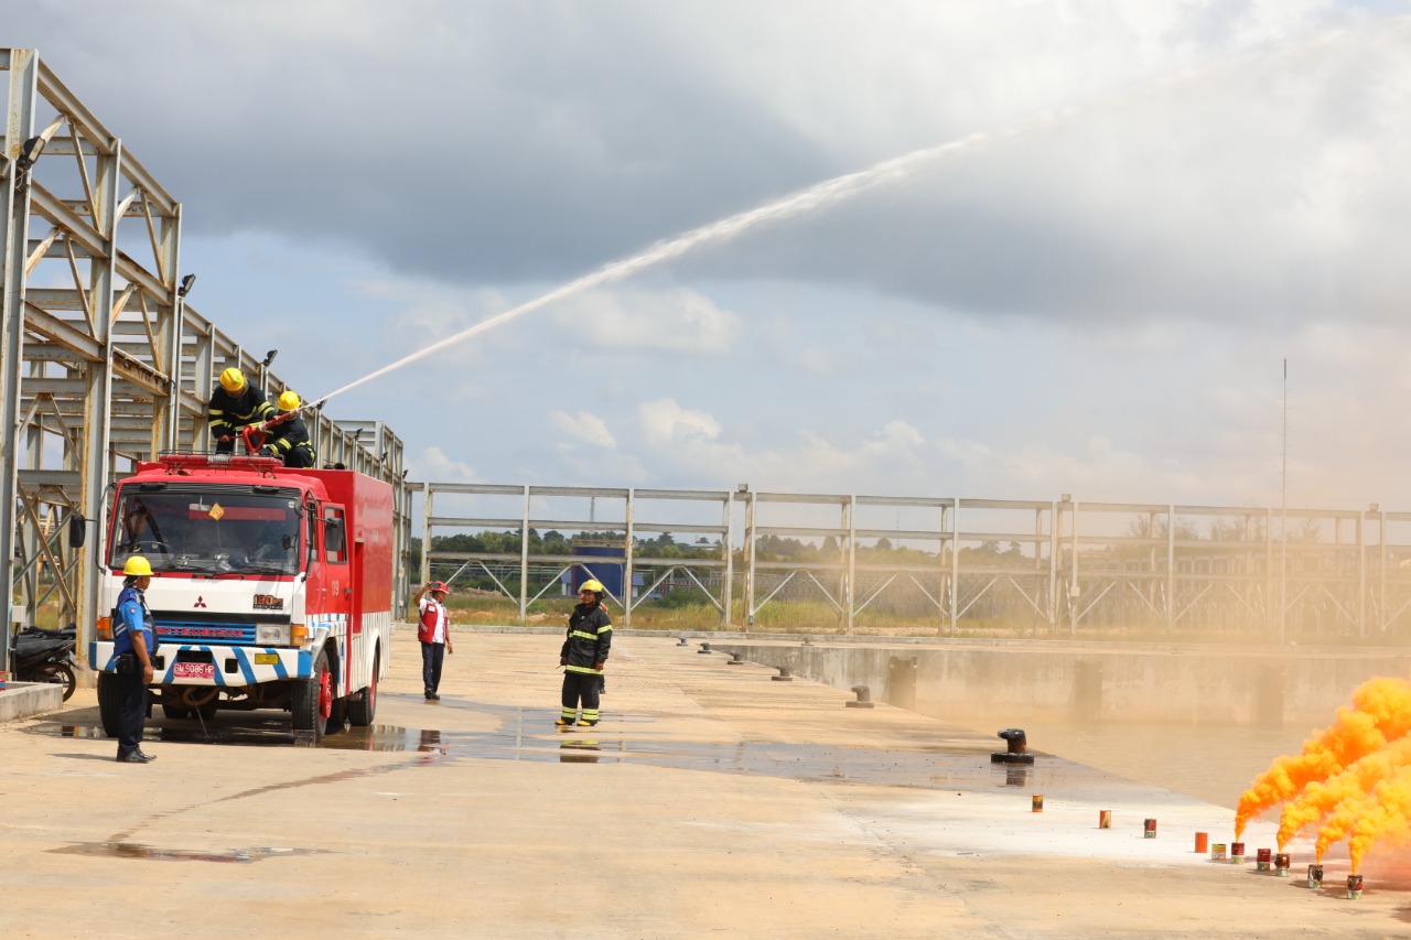
<path fill-rule="evenodd" d="M 1254 778 L 1250 789 L 1240 795 L 1235 810 L 1236 841 L 1245 836 L 1245 826 L 1250 819 L 1277 803 L 1294 799 L 1311 783 L 1321 785 L 1318 795 L 1311 795 L 1308 807 L 1297 810 L 1297 820 L 1291 820 L 1290 824 L 1294 826 L 1292 831 L 1297 831 L 1316 821 L 1339 805 L 1332 802 L 1326 809 L 1314 813 L 1315 805 L 1324 806 L 1322 788 L 1326 788 L 1333 778 L 1339 778 L 1350 764 L 1381 751 L 1388 741 L 1404 738 L 1408 730 L 1411 730 L 1411 683 L 1403 679 L 1370 679 L 1362 683 L 1352 693 L 1352 704 L 1338 709 L 1336 721 L 1304 741 L 1302 752 L 1277 758 L 1267 771 Z M 1339 783 L 1339 788 L 1342 786 L 1343 783 Z M 1366 790 L 1359 789 L 1359 792 Z M 1280 844 L 1283 843 L 1283 826 L 1280 826 Z"/>

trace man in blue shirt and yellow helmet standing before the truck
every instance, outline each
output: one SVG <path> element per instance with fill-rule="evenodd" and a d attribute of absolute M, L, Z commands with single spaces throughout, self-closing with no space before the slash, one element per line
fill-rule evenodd
<path fill-rule="evenodd" d="M 123 565 L 123 593 L 113 617 L 113 659 L 117 672 L 117 759 L 123 764 L 155 761 L 143 754 L 143 724 L 147 718 L 147 686 L 152 680 L 152 649 L 157 625 L 147 608 L 144 591 L 152 582 L 152 566 L 141 555 Z"/>

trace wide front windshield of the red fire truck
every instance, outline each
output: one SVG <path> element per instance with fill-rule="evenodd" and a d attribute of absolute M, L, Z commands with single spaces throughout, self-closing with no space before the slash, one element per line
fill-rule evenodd
<path fill-rule="evenodd" d="M 299 501 L 240 491 L 144 491 L 124 487 L 114 514 L 109 565 L 133 555 L 154 572 L 295 574 Z"/>

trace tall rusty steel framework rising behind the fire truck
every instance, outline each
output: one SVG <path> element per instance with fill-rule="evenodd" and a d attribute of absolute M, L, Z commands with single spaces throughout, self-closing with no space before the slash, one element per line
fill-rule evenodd
<path fill-rule="evenodd" d="M 0 584 L 8 662 L 14 622 L 78 624 L 79 655 L 97 615 L 104 493 L 138 460 L 207 446 L 205 402 L 234 366 L 278 395 L 288 384 L 188 302 L 182 206 L 34 49 L 0 48 L 8 103 L 0 138 L 3 399 Z M 382 422 L 306 416 L 323 463 L 387 480 L 405 560 L 409 498 L 402 442 Z M 87 559 L 87 560 L 85 560 Z M 398 566 L 398 604 L 406 597 Z M 14 605 L 16 594 L 20 605 Z M 56 610 L 48 610 L 48 608 Z"/>

